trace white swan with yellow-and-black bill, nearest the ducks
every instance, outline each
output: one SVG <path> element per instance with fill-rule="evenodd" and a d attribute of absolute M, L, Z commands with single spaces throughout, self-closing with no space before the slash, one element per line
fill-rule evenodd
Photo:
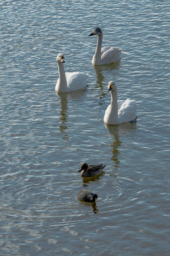
<path fill-rule="evenodd" d="M 136 101 L 117 100 L 117 87 L 114 81 L 108 84 L 108 91 L 111 93 L 111 104 L 107 107 L 104 122 L 107 124 L 122 124 L 136 118 Z"/>

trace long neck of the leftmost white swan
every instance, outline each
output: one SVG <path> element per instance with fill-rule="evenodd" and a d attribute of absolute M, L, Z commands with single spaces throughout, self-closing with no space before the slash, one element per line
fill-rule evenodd
<path fill-rule="evenodd" d="M 64 64 L 57 62 L 59 68 L 58 92 L 67 92 L 67 80 L 64 71 Z"/>

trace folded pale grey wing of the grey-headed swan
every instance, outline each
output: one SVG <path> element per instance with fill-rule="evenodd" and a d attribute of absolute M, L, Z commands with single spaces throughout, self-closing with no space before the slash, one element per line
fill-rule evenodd
<path fill-rule="evenodd" d="M 103 64 L 113 63 L 120 60 L 121 49 L 118 47 L 111 47 L 101 55 L 101 61 Z"/>

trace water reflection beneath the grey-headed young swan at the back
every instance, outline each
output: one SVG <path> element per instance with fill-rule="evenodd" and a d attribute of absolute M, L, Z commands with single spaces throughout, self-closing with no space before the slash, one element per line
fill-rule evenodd
<path fill-rule="evenodd" d="M 107 65 L 100 65 L 100 66 L 95 66 L 93 65 L 94 71 L 96 73 L 96 83 L 103 88 L 103 84 L 104 81 L 106 82 L 107 79 L 105 79 L 105 76 L 101 73 L 101 71 L 106 71 L 107 73 L 109 72 L 109 74 L 112 74 L 112 76 L 115 77 L 114 72 L 112 73 L 111 71 L 113 71 L 114 69 L 119 69 L 120 66 L 120 61 L 117 61 L 115 63 L 112 64 L 107 64 Z"/>

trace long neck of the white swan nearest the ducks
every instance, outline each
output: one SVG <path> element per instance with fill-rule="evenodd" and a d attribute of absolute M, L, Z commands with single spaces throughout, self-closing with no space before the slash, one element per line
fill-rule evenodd
<path fill-rule="evenodd" d="M 119 123 L 118 119 L 118 101 L 117 101 L 117 89 L 114 91 L 110 91 L 111 93 L 111 104 L 110 104 L 110 113 L 109 118 L 111 118 L 112 122 L 115 124 Z"/>

